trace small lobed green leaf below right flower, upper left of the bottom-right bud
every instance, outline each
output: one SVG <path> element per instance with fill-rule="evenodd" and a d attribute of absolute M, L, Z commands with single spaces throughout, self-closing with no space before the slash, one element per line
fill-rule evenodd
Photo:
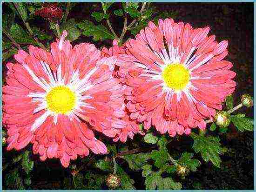
<path fill-rule="evenodd" d="M 169 160 L 169 154 L 166 147 L 161 147 L 159 151 L 153 150 L 151 158 L 155 160 L 155 166 L 161 168 Z"/>

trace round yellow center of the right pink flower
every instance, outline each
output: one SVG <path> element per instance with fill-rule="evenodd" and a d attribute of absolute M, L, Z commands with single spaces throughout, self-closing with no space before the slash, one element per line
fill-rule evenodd
<path fill-rule="evenodd" d="M 178 91 L 187 86 L 190 75 L 186 67 L 179 63 L 172 63 L 163 70 L 162 78 L 168 87 Z"/>

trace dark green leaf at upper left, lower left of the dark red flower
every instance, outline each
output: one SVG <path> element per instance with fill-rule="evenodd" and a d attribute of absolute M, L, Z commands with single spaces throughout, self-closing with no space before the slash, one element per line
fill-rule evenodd
<path fill-rule="evenodd" d="M 26 33 L 26 31 L 24 31 L 23 28 L 17 23 L 12 24 L 9 33 L 17 43 L 36 45 L 36 42 L 34 41 L 34 39 L 30 37 Z"/>

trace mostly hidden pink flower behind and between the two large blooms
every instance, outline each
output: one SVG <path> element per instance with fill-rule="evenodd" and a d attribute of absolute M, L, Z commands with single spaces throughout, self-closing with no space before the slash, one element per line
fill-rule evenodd
<path fill-rule="evenodd" d="M 101 55 L 103 57 L 112 57 L 112 56 L 117 57 L 120 53 L 125 53 L 125 47 L 118 46 L 117 40 L 113 40 L 113 47 L 110 47 L 109 49 L 107 49 L 106 47 L 103 47 L 101 50 Z M 114 77 L 116 77 L 117 71 L 118 71 L 118 66 L 115 67 L 115 70 L 113 73 Z M 126 85 L 124 85 L 123 87 L 125 89 Z M 123 99 L 124 99 L 124 97 L 123 97 Z M 130 113 L 128 112 L 128 110 L 125 109 L 124 112 L 125 112 L 125 116 L 121 119 L 126 122 L 127 126 L 123 129 L 121 129 L 120 132 L 113 133 L 113 135 L 115 134 L 115 138 L 113 138 L 113 141 L 120 140 L 121 142 L 126 142 L 128 137 L 130 139 L 133 139 L 133 137 L 136 133 L 140 133 L 141 135 L 144 135 L 144 132 L 141 131 L 141 128 L 140 128 L 138 122 L 134 119 L 129 118 Z M 113 130 L 113 131 L 115 131 L 115 130 Z"/>

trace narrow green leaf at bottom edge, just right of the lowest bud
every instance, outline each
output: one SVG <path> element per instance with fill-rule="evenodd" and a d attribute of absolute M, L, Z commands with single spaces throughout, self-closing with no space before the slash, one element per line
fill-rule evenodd
<path fill-rule="evenodd" d="M 121 177 L 121 186 L 118 189 L 122 190 L 134 190 L 135 187 L 133 186 L 134 180 L 130 179 L 128 174 L 119 166 L 116 165 L 116 173 Z"/>

